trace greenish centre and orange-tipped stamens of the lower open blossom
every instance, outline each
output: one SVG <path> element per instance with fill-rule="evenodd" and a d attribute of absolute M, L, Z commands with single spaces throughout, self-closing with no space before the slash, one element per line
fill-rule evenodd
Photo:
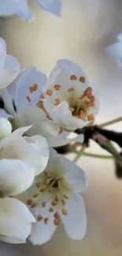
<path fill-rule="evenodd" d="M 50 172 L 45 171 L 40 175 L 40 181 L 35 184 L 31 193 L 31 198 L 28 198 L 27 204 L 33 209 L 35 206 L 40 204 L 43 207 L 46 207 L 48 202 L 49 209 L 47 212 L 54 213 L 54 224 L 58 225 L 61 220 L 58 210 L 60 210 L 64 215 L 68 214 L 68 211 L 65 209 L 65 205 L 70 193 L 70 187 L 63 176 L 55 176 Z M 46 199 L 43 200 L 46 195 L 48 195 L 47 202 Z M 44 221 L 44 223 L 47 224 L 49 218 L 38 215 L 37 221 Z"/>

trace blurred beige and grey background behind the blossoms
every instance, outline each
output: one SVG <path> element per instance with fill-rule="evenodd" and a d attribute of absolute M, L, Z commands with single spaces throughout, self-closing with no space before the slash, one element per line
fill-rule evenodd
<path fill-rule="evenodd" d="M 36 66 L 48 75 L 57 59 L 76 61 L 99 91 L 101 124 L 122 115 L 122 71 L 109 57 L 105 46 L 122 32 L 122 0 L 64 0 L 58 18 L 30 5 L 35 20 L 17 17 L 0 19 L 0 36 L 9 54 L 23 66 Z M 122 124 L 109 126 L 122 131 Z M 89 152 L 105 154 L 95 143 Z M 69 156 L 72 158 L 72 155 Z M 87 234 L 82 241 L 68 239 L 62 227 L 43 246 L 0 244 L 2 256 L 121 256 L 122 180 L 114 174 L 112 160 L 83 157 L 78 165 L 91 176 L 83 195 L 87 209 Z M 16 228 L 16 227 L 15 227 Z"/>

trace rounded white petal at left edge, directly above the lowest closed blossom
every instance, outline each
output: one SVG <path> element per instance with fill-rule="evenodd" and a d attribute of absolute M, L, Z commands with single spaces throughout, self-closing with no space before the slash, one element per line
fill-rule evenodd
<path fill-rule="evenodd" d="M 35 176 L 31 169 L 23 161 L 3 159 L 0 161 L 0 194 L 17 195 L 31 186 Z"/>

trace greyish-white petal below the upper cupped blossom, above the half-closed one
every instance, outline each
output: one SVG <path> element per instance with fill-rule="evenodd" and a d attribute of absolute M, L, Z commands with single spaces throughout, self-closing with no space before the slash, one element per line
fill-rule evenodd
<path fill-rule="evenodd" d="M 50 139 L 59 132 L 59 125 L 47 119 L 43 110 L 38 107 L 25 108 L 23 112 L 18 113 L 18 117 L 22 124 L 32 124 L 28 135 L 43 135 L 46 139 Z"/>

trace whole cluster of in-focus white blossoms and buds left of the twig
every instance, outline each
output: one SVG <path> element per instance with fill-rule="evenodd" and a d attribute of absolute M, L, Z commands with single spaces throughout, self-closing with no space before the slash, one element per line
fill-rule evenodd
<path fill-rule="evenodd" d="M 24 69 L 0 39 L 0 97 L 0 239 L 43 244 L 61 222 L 71 239 L 82 239 L 89 176 L 54 147 L 83 143 L 83 135 L 70 135 L 94 123 L 96 88 L 68 59 L 49 77 Z"/>

